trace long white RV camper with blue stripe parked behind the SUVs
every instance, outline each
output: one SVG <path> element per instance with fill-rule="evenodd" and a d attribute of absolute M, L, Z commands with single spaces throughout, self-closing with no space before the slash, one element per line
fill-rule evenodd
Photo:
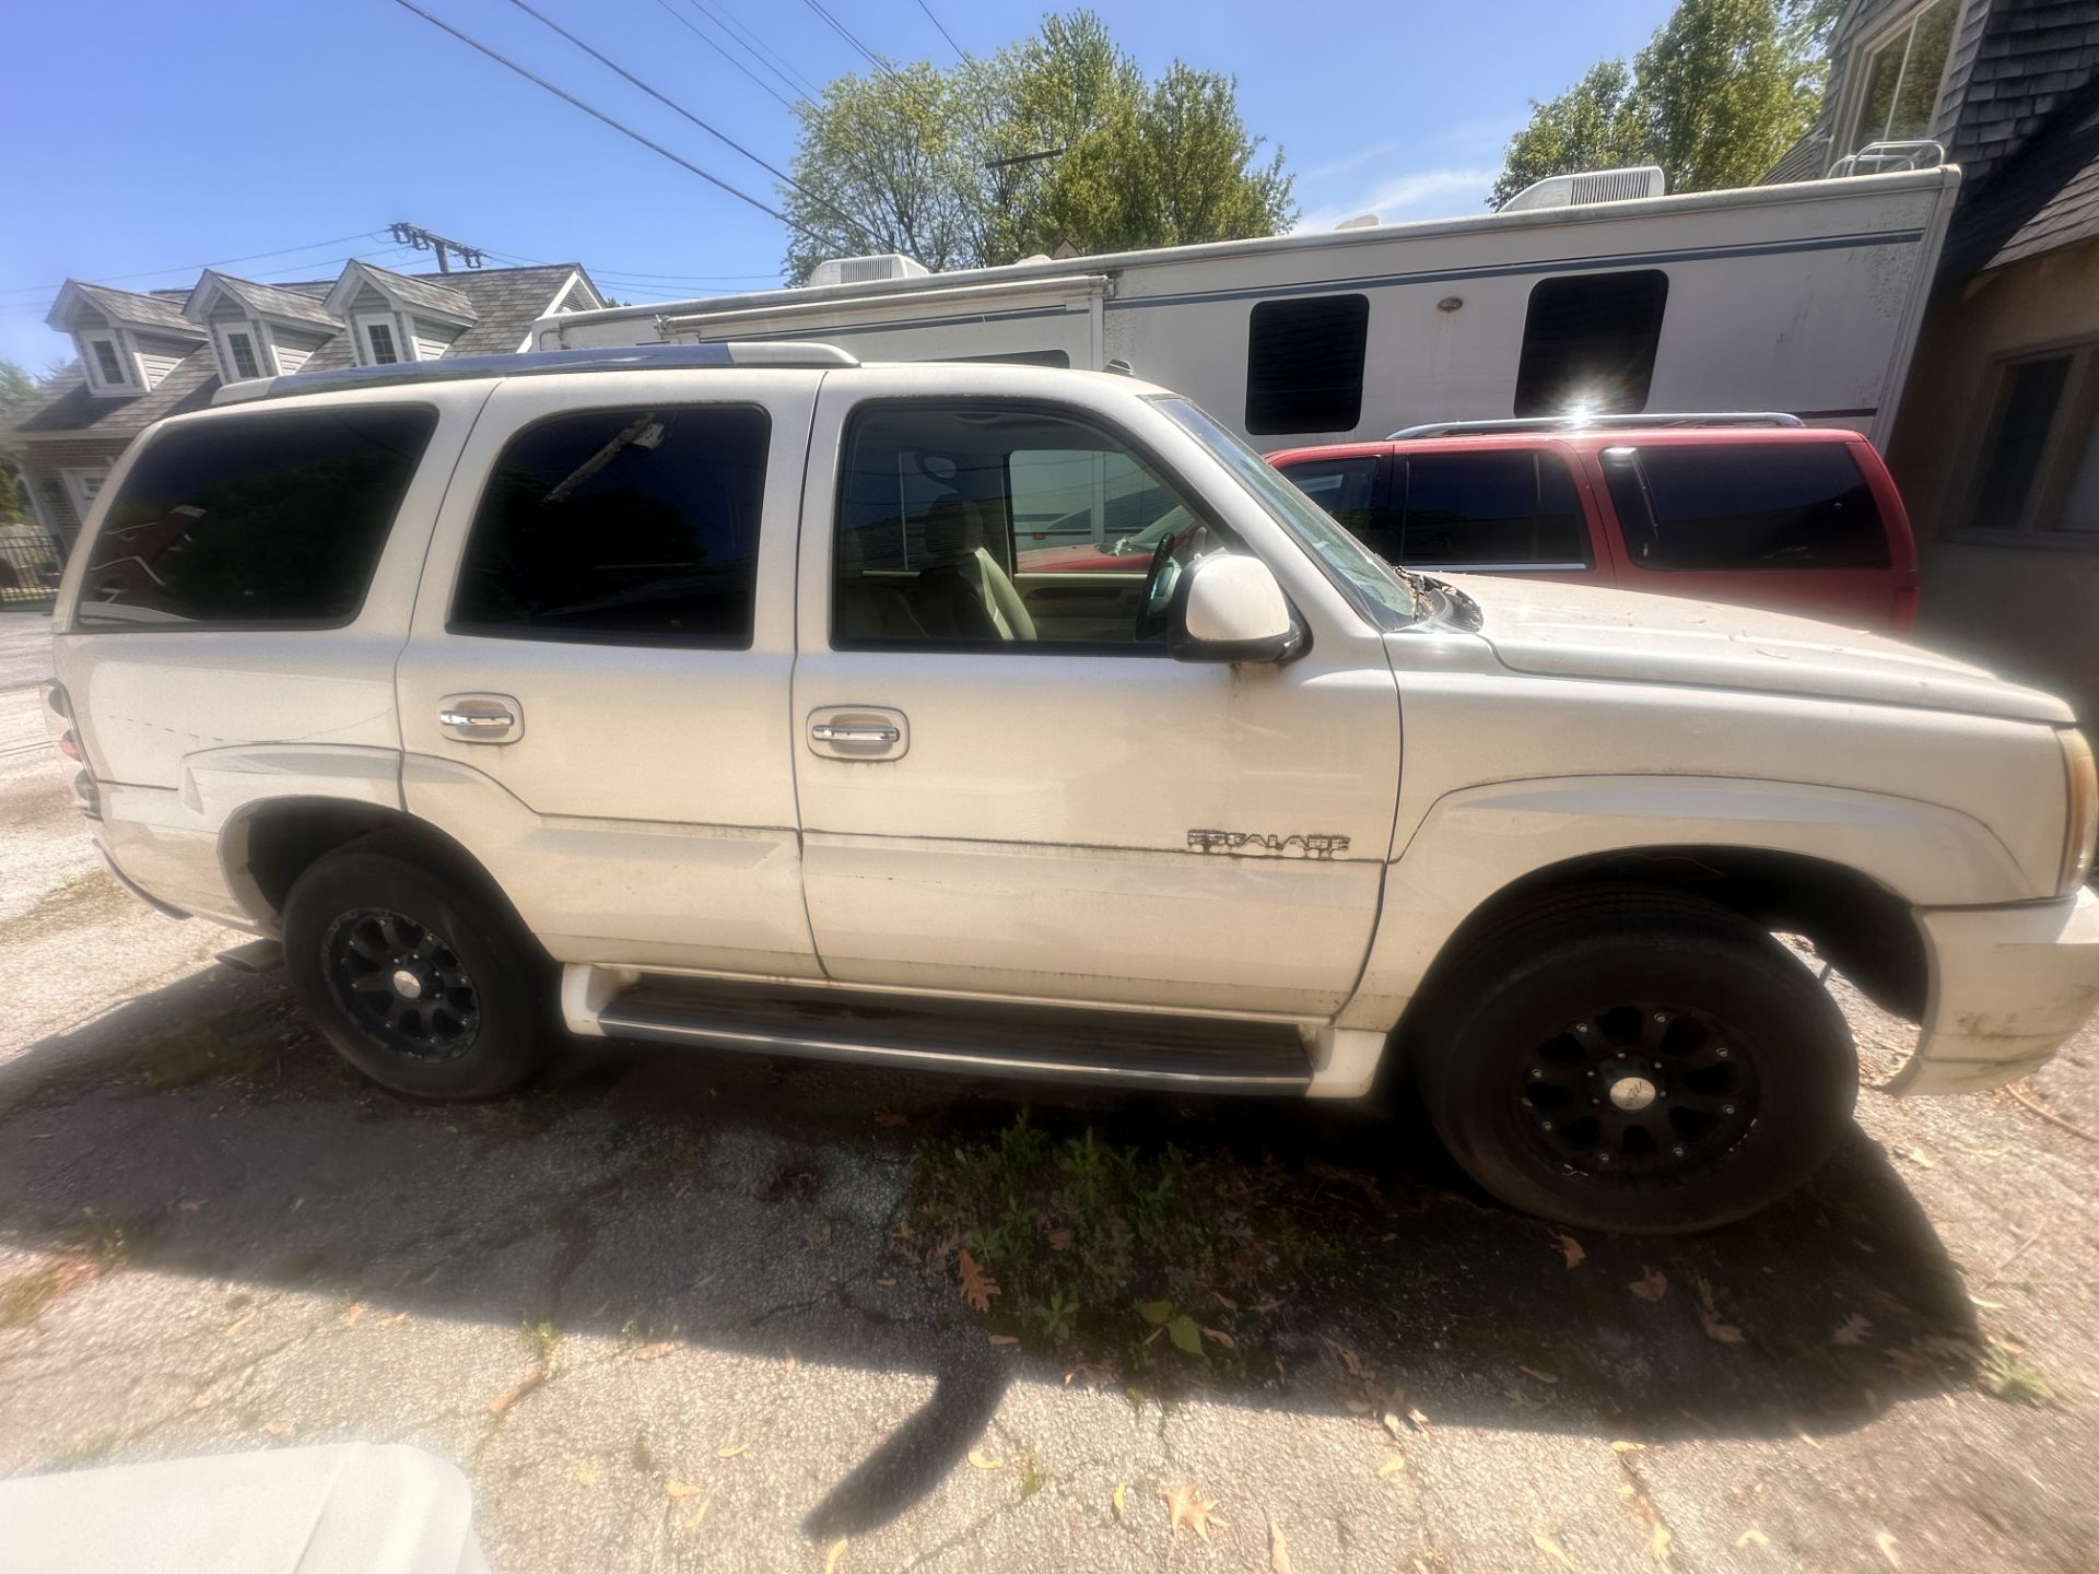
<path fill-rule="evenodd" d="M 1413 225 L 963 273 L 846 258 L 796 290 L 544 317 L 533 346 L 1121 363 L 1264 449 L 1570 407 L 1782 409 L 1885 441 L 1958 180 L 1667 197 L 1660 170 L 1612 170 Z"/>

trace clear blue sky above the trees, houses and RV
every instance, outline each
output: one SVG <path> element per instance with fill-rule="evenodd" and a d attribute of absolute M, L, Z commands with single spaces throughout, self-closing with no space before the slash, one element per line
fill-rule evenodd
<path fill-rule="evenodd" d="M 764 170 L 508 0 L 418 2 L 777 206 Z M 533 0 L 787 168 L 793 115 L 701 42 L 695 27 L 718 40 L 730 34 L 695 2 L 812 84 L 865 69 L 808 0 Z M 1043 15 L 1037 0 L 928 4 L 961 48 L 978 52 L 1033 31 Z M 953 59 L 917 0 L 825 0 L 825 8 L 890 59 Z M 1096 8 L 1146 71 L 1180 57 L 1236 76 L 1249 128 L 1280 143 L 1297 174 L 1301 225 L 1331 227 L 1358 212 L 1478 210 L 1528 101 L 1644 44 L 1669 0 L 1106 0 Z M 21 6 L 8 36 L 19 155 L 8 159 L 0 225 L 0 357 L 31 369 L 71 348 L 42 321 L 59 279 L 149 290 L 191 283 L 197 264 L 222 260 L 250 279 L 319 279 L 353 254 L 430 267 L 428 256 L 393 248 L 384 235 L 393 220 L 483 246 L 493 260 L 579 260 L 626 300 L 766 288 L 779 277 L 783 237 L 772 218 L 393 0 Z"/>

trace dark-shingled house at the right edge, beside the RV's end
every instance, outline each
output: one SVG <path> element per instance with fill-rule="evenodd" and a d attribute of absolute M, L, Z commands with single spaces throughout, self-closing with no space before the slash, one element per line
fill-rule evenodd
<path fill-rule="evenodd" d="M 1960 166 L 1887 462 L 1918 638 L 2099 720 L 2099 0 L 1853 0 L 1769 180 L 1937 143 Z M 1927 149 L 1929 155 L 1929 149 Z M 1847 159 L 1853 159 L 1847 164 Z"/>

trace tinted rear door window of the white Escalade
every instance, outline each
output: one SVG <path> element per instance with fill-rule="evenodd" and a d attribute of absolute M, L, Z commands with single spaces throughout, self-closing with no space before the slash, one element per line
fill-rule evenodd
<path fill-rule="evenodd" d="M 745 405 L 592 409 L 518 432 L 474 512 L 449 628 L 747 646 L 770 432 Z"/>

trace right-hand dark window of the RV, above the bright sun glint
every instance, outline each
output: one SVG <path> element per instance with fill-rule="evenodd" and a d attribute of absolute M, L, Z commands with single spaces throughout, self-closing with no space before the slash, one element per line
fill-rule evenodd
<path fill-rule="evenodd" d="M 1515 413 L 1646 409 L 1667 304 L 1669 275 L 1660 269 L 1539 279 L 1524 317 Z"/>

